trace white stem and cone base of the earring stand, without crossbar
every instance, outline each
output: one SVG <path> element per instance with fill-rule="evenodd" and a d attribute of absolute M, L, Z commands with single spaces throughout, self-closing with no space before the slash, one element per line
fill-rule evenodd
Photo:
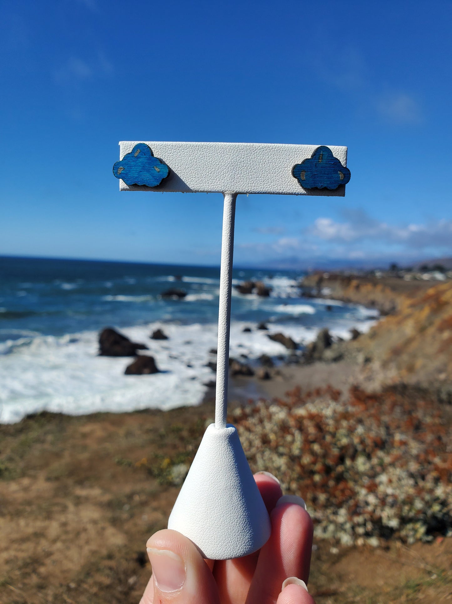
<path fill-rule="evenodd" d="M 226 423 L 236 198 L 237 193 L 224 194 L 215 424 L 202 438 L 168 521 L 168 528 L 213 560 L 250 554 L 270 536 L 270 519 L 239 435 Z"/>

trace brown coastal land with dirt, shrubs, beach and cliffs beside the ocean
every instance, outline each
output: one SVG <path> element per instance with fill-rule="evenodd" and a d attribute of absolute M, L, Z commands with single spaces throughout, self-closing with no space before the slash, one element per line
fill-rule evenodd
<path fill-rule="evenodd" d="M 380 289 L 358 281 L 344 298 L 380 306 Z M 324 330 L 303 350 L 287 340 L 286 362 L 262 355 L 252 371 L 231 362 L 230 420 L 251 467 L 277 475 L 313 516 L 318 604 L 450 597 L 452 283 L 391 288 L 380 306 L 391 312 L 367 334 Z M 135 338 L 105 336 L 132 365 L 151 358 Z M 0 425 L 1 602 L 139 600 L 146 538 L 166 526 L 213 419 L 210 386 L 197 407 Z"/>

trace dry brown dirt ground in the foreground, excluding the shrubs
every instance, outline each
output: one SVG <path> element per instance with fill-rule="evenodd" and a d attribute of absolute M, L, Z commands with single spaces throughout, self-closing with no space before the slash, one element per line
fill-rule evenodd
<path fill-rule="evenodd" d="M 0 426 L 0 602 L 137 603 L 212 403 L 162 413 L 40 414 Z M 452 539 L 314 545 L 318 604 L 452 602 Z"/>

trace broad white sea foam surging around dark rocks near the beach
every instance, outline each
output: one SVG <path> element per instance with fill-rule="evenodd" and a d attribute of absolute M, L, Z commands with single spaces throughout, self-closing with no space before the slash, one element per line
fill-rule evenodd
<path fill-rule="evenodd" d="M 287 355 L 282 344 L 250 323 L 231 324 L 231 357 L 262 354 Z M 152 330 L 163 329 L 168 340 L 151 340 Z M 98 333 L 36 336 L 0 344 L 0 422 L 14 423 L 30 413 L 53 411 L 69 415 L 98 411 L 170 409 L 196 405 L 204 397 L 204 384 L 215 379 L 206 367 L 209 350 L 216 348 L 218 326 L 152 323 L 121 330 L 128 338 L 148 345 L 143 353 L 155 358 L 163 373 L 125 376 L 130 358 L 98 356 Z M 313 341 L 318 329 L 271 324 L 271 332 L 283 332 L 296 342 Z M 334 330 L 333 330 L 334 333 Z"/>

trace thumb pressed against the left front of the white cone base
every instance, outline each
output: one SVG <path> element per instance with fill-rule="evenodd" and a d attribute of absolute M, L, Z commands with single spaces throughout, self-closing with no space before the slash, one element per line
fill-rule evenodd
<path fill-rule="evenodd" d="M 154 604 L 219 602 L 212 572 L 190 539 L 175 530 L 161 530 L 152 535 L 146 548 L 152 565 L 154 587 L 153 599 L 149 598 L 150 602 Z"/>

